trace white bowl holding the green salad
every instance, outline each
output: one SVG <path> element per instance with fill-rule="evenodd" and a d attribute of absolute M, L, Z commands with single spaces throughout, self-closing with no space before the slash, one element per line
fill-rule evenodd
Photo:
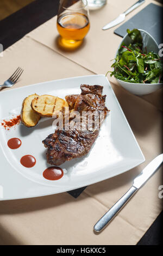
<path fill-rule="evenodd" d="M 143 49 L 146 48 L 147 52 L 155 52 L 158 54 L 159 52 L 159 46 L 156 43 L 156 41 L 154 40 L 154 38 L 152 37 L 152 35 L 150 35 L 149 33 L 147 33 L 146 31 L 143 31 L 142 29 L 139 29 L 139 31 L 141 32 L 142 35 L 142 39 L 143 39 Z M 121 47 L 121 45 L 124 43 L 126 45 L 129 45 L 131 42 L 130 37 L 128 36 L 128 34 L 126 34 L 123 38 L 123 40 L 121 41 L 121 44 L 118 47 Z M 118 50 L 116 52 L 116 56 L 118 54 Z M 160 89 L 162 87 L 163 84 L 158 84 L 158 83 L 129 83 L 129 82 L 124 82 L 122 80 L 116 79 L 118 81 L 118 83 L 121 84 L 121 86 L 123 88 L 125 88 L 126 90 L 128 90 L 130 93 L 133 93 L 135 95 L 146 95 L 149 93 L 153 93 L 156 90 Z"/>

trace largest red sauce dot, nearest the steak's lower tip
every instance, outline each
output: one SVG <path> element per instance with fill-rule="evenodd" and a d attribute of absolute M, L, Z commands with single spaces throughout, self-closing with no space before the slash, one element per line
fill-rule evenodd
<path fill-rule="evenodd" d="M 64 171 L 60 167 L 49 167 L 43 172 L 43 177 L 47 180 L 59 180 L 64 175 Z"/>

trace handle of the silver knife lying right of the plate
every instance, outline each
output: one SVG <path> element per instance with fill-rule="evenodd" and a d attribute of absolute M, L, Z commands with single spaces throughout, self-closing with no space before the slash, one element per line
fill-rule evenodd
<path fill-rule="evenodd" d="M 137 191 L 137 188 L 132 186 L 123 197 L 121 197 L 117 203 L 115 203 L 109 211 L 95 224 L 94 231 L 101 231 L 111 220 L 116 216 L 116 214 L 122 209 L 122 207 L 128 202 L 131 196 Z"/>

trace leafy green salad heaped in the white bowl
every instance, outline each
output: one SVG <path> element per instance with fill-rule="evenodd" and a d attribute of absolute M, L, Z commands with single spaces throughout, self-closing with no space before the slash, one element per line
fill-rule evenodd
<path fill-rule="evenodd" d="M 158 54 L 143 51 L 142 36 L 138 29 L 127 29 L 127 33 L 131 43 L 121 45 L 111 66 L 114 71 L 108 71 L 106 75 L 110 72 L 111 76 L 130 83 L 163 83 L 163 64 Z"/>

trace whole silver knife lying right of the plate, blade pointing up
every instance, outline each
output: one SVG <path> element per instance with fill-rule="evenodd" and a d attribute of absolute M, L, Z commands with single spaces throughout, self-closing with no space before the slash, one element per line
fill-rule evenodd
<path fill-rule="evenodd" d="M 128 202 L 131 196 L 139 190 L 139 188 L 145 184 L 145 182 L 158 170 L 163 162 L 163 154 L 155 157 L 152 162 L 150 162 L 145 169 L 134 179 L 133 186 L 124 194 L 120 200 L 115 203 L 115 205 L 110 208 L 108 212 L 95 224 L 94 231 L 100 232 L 102 229 L 116 216 L 116 214 L 121 210 L 121 208 Z"/>

